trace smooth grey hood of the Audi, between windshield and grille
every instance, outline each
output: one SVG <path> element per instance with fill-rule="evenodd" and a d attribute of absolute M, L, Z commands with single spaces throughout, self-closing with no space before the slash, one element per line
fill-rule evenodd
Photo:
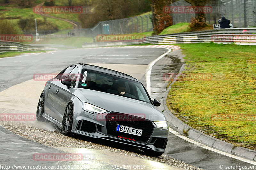
<path fill-rule="evenodd" d="M 84 95 L 90 104 L 103 108 L 109 112 L 132 114 L 138 117 L 144 117 L 151 121 L 165 120 L 164 114 L 152 104 L 89 89 L 78 88 L 77 90 Z"/>

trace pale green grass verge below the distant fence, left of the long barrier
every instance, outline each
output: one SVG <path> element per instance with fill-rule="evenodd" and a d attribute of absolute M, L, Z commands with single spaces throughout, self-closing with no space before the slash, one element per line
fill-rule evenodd
<path fill-rule="evenodd" d="M 35 44 L 60 44 L 60 45 L 67 45 L 76 48 L 82 48 L 82 45 L 86 43 L 93 42 L 92 38 L 88 37 L 67 37 L 67 38 L 49 38 L 44 39 L 39 42 L 33 42 Z"/>

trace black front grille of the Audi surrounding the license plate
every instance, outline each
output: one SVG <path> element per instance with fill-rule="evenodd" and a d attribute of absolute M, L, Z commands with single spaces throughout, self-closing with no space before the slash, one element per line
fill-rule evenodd
<path fill-rule="evenodd" d="M 141 129 L 142 134 L 141 136 L 137 136 L 124 132 L 118 132 L 116 131 L 118 124 L 135 129 Z M 110 112 L 108 115 L 106 115 L 106 128 L 108 136 L 118 137 L 120 139 L 126 139 L 144 144 L 147 143 L 154 130 L 153 124 L 148 119 L 116 112 Z"/>

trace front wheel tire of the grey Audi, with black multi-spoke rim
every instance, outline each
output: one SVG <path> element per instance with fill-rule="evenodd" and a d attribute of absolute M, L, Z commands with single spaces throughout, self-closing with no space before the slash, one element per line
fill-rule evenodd
<path fill-rule="evenodd" d="M 73 116 L 74 116 L 74 107 L 72 103 L 69 103 L 65 109 L 62 125 L 61 125 L 61 132 L 63 135 L 69 136 L 71 134 L 72 125 L 73 125 Z"/>

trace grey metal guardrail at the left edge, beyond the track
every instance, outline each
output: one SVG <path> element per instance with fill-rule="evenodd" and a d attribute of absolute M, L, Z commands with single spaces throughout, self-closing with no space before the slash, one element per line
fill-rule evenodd
<path fill-rule="evenodd" d="M 0 52 L 5 51 L 40 51 L 44 50 L 42 46 L 30 46 L 19 42 L 0 41 Z"/>

